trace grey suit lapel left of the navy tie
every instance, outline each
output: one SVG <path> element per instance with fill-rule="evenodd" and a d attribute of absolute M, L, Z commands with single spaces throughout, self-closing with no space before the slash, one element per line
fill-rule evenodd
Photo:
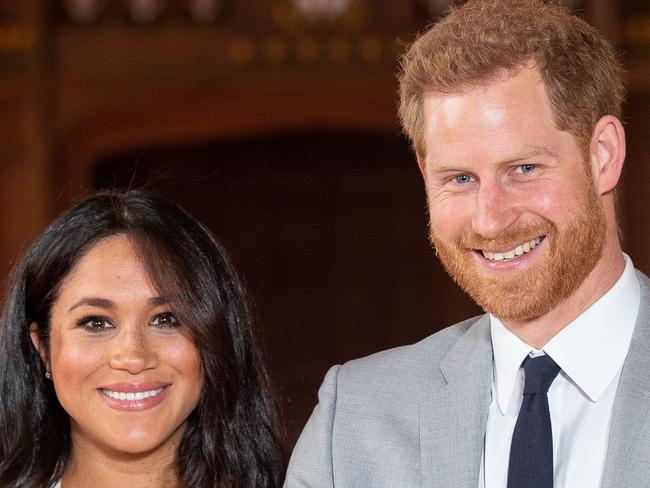
<path fill-rule="evenodd" d="M 423 487 L 478 486 L 492 369 L 489 318 L 485 315 L 441 363 L 446 386 L 427 392 L 420 401 Z"/>

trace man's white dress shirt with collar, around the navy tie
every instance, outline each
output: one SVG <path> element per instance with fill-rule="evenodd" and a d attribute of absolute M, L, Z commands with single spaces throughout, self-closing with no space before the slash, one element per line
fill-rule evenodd
<path fill-rule="evenodd" d="M 490 316 L 494 374 L 479 488 L 506 488 L 510 442 L 523 399 L 527 355 L 548 354 L 562 368 L 548 391 L 554 488 L 600 486 L 612 407 L 641 297 L 634 266 L 541 351 Z"/>

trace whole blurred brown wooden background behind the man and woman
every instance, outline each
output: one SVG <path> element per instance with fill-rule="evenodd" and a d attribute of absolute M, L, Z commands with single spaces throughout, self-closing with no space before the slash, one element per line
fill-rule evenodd
<path fill-rule="evenodd" d="M 448 0 L 2 0 L 0 286 L 89 191 L 147 187 L 243 273 L 290 451 L 332 364 L 474 314 L 429 248 L 398 58 Z M 650 1 L 563 2 L 624 53 L 624 247 L 650 272 Z M 170 236 L 173 238 L 173 236 Z"/>

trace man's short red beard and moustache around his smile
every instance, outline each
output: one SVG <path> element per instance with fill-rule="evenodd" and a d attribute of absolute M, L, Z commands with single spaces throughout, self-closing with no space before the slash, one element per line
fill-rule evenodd
<path fill-rule="evenodd" d="M 430 229 L 431 242 L 447 273 L 486 312 L 506 320 L 532 320 L 545 315 L 569 297 L 585 280 L 602 254 L 605 215 L 587 178 L 577 213 L 560 231 L 540 217 L 540 222 L 508 229 L 494 240 L 469 228 L 457 242 L 444 242 Z M 481 250 L 499 252 L 543 237 L 543 247 L 532 256 L 534 264 L 521 271 L 494 276 L 482 269 L 474 255 Z M 516 259 L 516 258 L 515 258 Z"/>

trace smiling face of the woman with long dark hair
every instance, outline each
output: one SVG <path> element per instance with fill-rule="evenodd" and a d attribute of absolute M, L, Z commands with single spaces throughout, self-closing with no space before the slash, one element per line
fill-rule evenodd
<path fill-rule="evenodd" d="M 158 295 L 128 238 L 93 246 L 63 281 L 49 345 L 32 341 L 70 415 L 73 444 L 174 449 L 203 375 L 189 329 Z"/>

